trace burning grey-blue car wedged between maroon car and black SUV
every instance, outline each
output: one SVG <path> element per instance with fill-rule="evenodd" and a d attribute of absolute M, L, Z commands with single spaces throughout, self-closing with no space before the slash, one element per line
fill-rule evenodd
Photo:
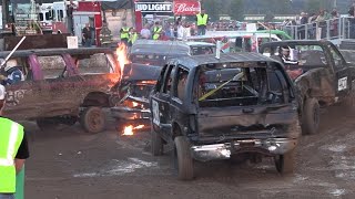
<path fill-rule="evenodd" d="M 124 48 L 118 54 L 125 54 Z M 136 126 L 150 118 L 149 95 L 169 59 L 195 54 L 213 54 L 215 45 L 204 42 L 139 40 L 129 53 L 129 60 L 119 57 L 122 67 L 120 102 L 111 108 L 112 116 Z M 119 55 L 120 56 L 120 55 Z"/>

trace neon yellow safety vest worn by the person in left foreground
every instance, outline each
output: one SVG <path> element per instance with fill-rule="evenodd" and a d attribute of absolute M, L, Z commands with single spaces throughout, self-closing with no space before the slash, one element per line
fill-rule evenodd
<path fill-rule="evenodd" d="M 16 192 L 14 158 L 23 139 L 23 126 L 0 117 L 0 193 Z"/>

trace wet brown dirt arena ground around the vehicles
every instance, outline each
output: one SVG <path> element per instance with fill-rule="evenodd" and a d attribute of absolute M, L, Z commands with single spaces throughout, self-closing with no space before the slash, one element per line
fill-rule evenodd
<path fill-rule="evenodd" d="M 169 154 L 149 153 L 149 133 L 122 137 L 111 121 L 105 133 L 79 125 L 31 132 L 26 166 L 28 199 L 139 198 L 354 198 L 355 115 L 323 111 L 318 135 L 303 136 L 293 176 L 276 172 L 272 159 L 196 166 L 194 181 L 179 181 Z"/>

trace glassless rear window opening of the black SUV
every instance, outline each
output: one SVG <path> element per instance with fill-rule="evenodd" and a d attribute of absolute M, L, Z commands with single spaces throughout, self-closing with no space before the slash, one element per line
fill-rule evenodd
<path fill-rule="evenodd" d="M 290 95 L 283 73 L 266 63 L 206 65 L 196 82 L 194 94 L 201 107 L 277 104 Z"/>

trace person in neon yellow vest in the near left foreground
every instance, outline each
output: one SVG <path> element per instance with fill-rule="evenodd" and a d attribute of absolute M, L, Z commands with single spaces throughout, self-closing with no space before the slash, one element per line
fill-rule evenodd
<path fill-rule="evenodd" d="M 0 199 L 14 199 L 16 176 L 30 155 L 23 126 L 2 116 L 4 104 L 0 85 Z"/>

